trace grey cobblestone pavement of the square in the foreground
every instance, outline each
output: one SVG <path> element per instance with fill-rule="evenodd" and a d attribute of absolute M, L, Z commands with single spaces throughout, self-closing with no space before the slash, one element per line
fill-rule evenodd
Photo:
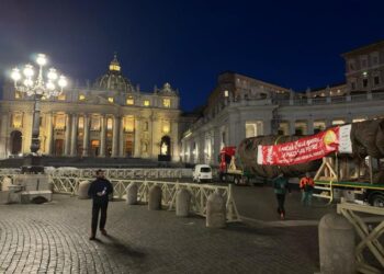
<path fill-rule="evenodd" d="M 264 197 L 270 190 L 245 187 L 237 195 L 241 192 Z M 250 206 L 260 207 L 262 202 L 250 205 L 247 201 L 238 204 L 250 213 Z M 1 205 L 0 273 L 317 272 L 317 226 L 271 226 L 281 224 L 272 203 L 266 206 L 272 208 L 272 216 L 263 207 L 255 208 L 253 215 L 240 212 L 250 218 L 259 214 L 263 222 L 246 220 L 208 229 L 197 216 L 178 218 L 174 212 L 112 202 L 106 224 L 110 236 L 98 235 L 98 241 L 88 239 L 89 199 L 54 195 L 54 202 L 43 205 Z"/>

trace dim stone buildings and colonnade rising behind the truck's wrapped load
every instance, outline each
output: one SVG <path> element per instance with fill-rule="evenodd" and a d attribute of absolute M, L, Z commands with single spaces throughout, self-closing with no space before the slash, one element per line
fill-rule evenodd
<path fill-rule="evenodd" d="M 183 133 L 183 162 L 216 164 L 224 146 L 259 135 L 309 135 L 384 117 L 384 41 L 343 54 L 346 83 L 296 93 L 238 73 L 218 77 L 202 117 Z"/>

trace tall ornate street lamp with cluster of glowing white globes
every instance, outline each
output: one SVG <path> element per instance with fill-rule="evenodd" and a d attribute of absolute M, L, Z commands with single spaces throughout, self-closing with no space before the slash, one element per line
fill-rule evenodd
<path fill-rule="evenodd" d="M 63 75 L 58 76 L 54 68 L 49 68 L 46 77 L 43 77 L 43 67 L 47 64 L 47 58 L 44 54 L 37 55 L 36 64 L 38 65 L 37 77 L 35 77 L 34 67 L 31 64 L 25 65 L 22 71 L 19 68 L 14 68 L 11 72 L 11 78 L 14 81 L 16 91 L 23 92 L 27 96 L 34 96 L 35 101 L 33 109 L 31 155 L 25 158 L 24 167 L 22 167 L 23 173 L 44 172 L 44 167 L 41 165 L 41 157 L 37 155 L 39 149 L 39 104 L 43 96 L 46 99 L 58 96 L 67 85 L 66 78 Z"/>

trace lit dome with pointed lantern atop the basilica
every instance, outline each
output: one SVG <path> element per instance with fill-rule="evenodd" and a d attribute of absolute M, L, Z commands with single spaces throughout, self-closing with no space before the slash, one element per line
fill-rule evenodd
<path fill-rule="evenodd" d="M 117 56 L 114 55 L 105 75 L 99 77 L 93 87 L 102 90 L 115 90 L 122 92 L 133 92 L 131 81 L 122 75 L 121 66 Z"/>

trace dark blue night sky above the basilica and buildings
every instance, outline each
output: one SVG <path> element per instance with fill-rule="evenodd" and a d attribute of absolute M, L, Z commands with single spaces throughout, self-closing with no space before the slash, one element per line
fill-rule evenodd
<path fill-rule="evenodd" d="M 84 84 L 117 52 L 134 84 L 168 81 L 191 111 L 226 70 L 295 91 L 342 82 L 340 54 L 384 39 L 383 12 L 380 0 L 0 0 L 0 70 L 45 53 Z"/>

